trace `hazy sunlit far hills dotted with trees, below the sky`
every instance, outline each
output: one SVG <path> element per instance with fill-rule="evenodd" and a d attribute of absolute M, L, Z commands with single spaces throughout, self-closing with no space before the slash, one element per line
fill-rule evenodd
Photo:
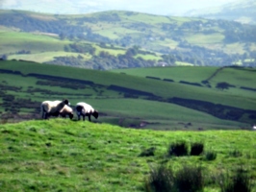
<path fill-rule="evenodd" d="M 255 27 L 232 21 L 118 11 L 0 15 L 0 55 L 8 60 L 105 70 L 163 62 L 255 66 Z"/>

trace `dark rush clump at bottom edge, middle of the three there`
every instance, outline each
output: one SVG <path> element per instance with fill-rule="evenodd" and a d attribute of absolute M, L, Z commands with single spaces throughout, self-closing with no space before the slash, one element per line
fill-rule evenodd
<path fill-rule="evenodd" d="M 201 167 L 183 166 L 175 174 L 176 191 L 195 192 L 203 191 L 204 180 Z"/>

